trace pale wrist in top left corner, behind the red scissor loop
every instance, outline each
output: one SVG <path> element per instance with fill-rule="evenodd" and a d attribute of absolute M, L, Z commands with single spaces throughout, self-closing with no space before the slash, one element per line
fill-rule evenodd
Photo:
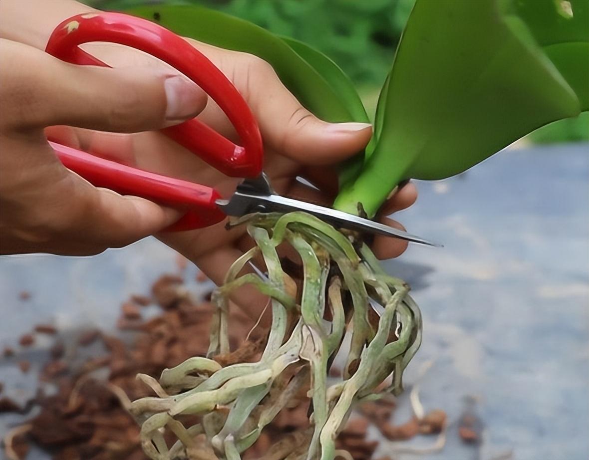
<path fill-rule="evenodd" d="M 2 0 L 0 38 L 45 49 L 49 35 L 71 16 L 97 11 L 73 0 Z"/>

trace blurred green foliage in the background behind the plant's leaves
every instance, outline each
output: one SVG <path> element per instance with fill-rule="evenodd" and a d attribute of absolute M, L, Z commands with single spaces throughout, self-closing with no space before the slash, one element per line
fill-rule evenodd
<path fill-rule="evenodd" d="M 435 0 L 430 0 L 435 1 Z M 415 0 L 85 0 L 120 11 L 141 4 L 197 4 L 306 42 L 333 59 L 356 84 L 368 114 L 391 68 Z M 535 143 L 589 139 L 589 113 L 530 134 Z"/>

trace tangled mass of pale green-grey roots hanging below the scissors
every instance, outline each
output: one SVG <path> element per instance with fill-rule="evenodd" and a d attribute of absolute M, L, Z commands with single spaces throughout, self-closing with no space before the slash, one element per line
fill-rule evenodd
<path fill-rule="evenodd" d="M 197 440 L 206 438 L 216 458 L 239 460 L 264 427 L 307 392 L 313 409 L 309 428 L 284 436 L 260 460 L 348 460 L 349 452 L 335 449 L 335 439 L 356 403 L 382 390 L 382 382 L 392 382 L 389 392 L 401 391 L 403 370 L 421 343 L 419 308 L 406 283 L 383 272 L 367 246 L 353 245 L 329 224 L 305 213 L 253 215 L 247 221 L 256 246 L 234 263 L 213 294 L 217 309 L 207 358 L 166 369 L 159 381 L 138 376 L 156 395 L 130 408 L 142 423 L 145 454 L 152 460 L 184 454 L 209 460 L 210 452 L 198 451 Z M 280 244 L 289 244 L 303 262 L 300 292 L 283 270 Z M 240 276 L 257 255 L 264 259 L 267 277 Z M 272 326 L 259 348 L 246 349 L 253 346 L 246 342 L 231 351 L 229 297 L 244 284 L 269 297 Z M 371 302 L 384 311 L 375 313 Z M 343 377 L 329 385 L 330 362 L 350 320 Z M 254 356 L 257 362 L 243 362 Z M 198 415 L 200 423 L 186 428 L 181 416 L 187 414 Z M 171 448 L 164 432 L 177 438 Z"/>

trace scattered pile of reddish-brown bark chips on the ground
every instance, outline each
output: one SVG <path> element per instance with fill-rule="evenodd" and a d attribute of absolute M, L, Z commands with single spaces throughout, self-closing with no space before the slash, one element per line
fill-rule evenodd
<path fill-rule="evenodd" d="M 156 303 L 161 310 L 150 319 L 143 319 L 143 309 L 151 303 Z M 191 356 L 204 356 L 209 345 L 212 313 L 213 306 L 209 302 L 191 299 L 180 276 L 162 276 L 153 285 L 150 297 L 133 296 L 121 306 L 118 329 L 131 331 L 133 339 L 124 341 L 120 336 L 98 330 L 81 333 L 75 344 L 78 348 L 95 346 L 99 340 L 104 346 L 102 352 L 92 353 L 75 367 L 64 358 L 67 347 L 56 335 L 57 331 L 52 326 L 37 326 L 37 333 L 55 335 L 51 359 L 42 370 L 41 379 L 54 383 L 58 391 L 51 396 L 39 392 L 34 405 L 40 407 L 40 412 L 14 436 L 9 436 L 5 442 L 6 456 L 24 460 L 29 444 L 34 443 L 49 452 L 54 460 L 144 460 L 139 427 L 125 405 L 152 395 L 135 376 L 145 373 L 157 378 L 163 369 L 176 366 Z M 238 309 L 231 314 L 243 315 Z M 260 351 L 257 343 L 262 343 L 259 333 L 252 334 L 249 342 L 243 342 L 253 326 L 252 321 L 243 316 L 243 320 L 234 320 L 232 324 L 242 326 L 241 330 L 231 331 L 231 349 L 237 351 L 219 359 L 228 362 L 256 359 Z M 21 342 L 23 346 L 31 345 L 34 335 L 23 336 Z M 373 453 L 378 442 L 366 439 L 370 423 L 389 439 L 439 432 L 445 423 L 445 414 L 434 411 L 425 423 L 412 419 L 393 426 L 390 421 L 394 405 L 393 401 L 363 405 L 340 434 L 337 448 L 346 449 L 355 460 L 376 460 Z M 308 409 L 308 398 L 301 395 L 298 403 L 280 412 L 264 429 L 244 460 L 266 458 L 272 450 L 270 447 L 279 439 L 304 433 L 309 426 Z M 24 409 L 2 398 L 0 411 Z"/>

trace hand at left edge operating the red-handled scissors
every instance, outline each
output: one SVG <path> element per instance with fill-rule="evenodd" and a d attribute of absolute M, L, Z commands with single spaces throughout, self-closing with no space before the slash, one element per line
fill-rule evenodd
<path fill-rule="evenodd" d="M 44 128 L 133 133 L 178 124 L 206 104 L 197 85 L 156 68 L 71 65 L 7 39 L 0 59 L 0 253 L 96 254 L 178 219 L 178 211 L 67 170 Z"/>

